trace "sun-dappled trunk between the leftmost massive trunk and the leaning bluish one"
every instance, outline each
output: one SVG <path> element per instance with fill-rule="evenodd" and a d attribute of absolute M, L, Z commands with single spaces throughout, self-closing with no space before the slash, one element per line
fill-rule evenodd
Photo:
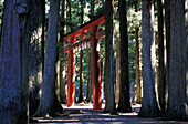
<path fill-rule="evenodd" d="M 30 66 L 30 115 L 33 115 L 39 106 L 40 90 L 42 87 L 42 62 L 43 62 L 43 8 L 45 0 L 32 0 L 31 2 L 31 41 L 29 46 L 29 66 Z"/>

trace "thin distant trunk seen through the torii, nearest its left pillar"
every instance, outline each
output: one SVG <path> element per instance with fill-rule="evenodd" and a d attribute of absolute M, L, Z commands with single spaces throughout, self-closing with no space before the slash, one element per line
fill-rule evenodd
<path fill-rule="evenodd" d="M 81 25 L 84 21 L 84 0 L 80 0 L 81 2 Z M 83 35 L 82 35 L 83 38 Z M 79 84 L 79 103 L 84 101 L 83 96 L 83 83 L 84 83 L 84 54 L 83 50 L 80 51 L 80 84 Z"/>

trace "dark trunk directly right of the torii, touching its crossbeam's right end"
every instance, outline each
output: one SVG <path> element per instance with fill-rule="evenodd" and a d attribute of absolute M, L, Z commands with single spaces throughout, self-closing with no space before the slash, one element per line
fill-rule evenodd
<path fill-rule="evenodd" d="M 111 114 L 116 113 L 115 105 L 115 94 L 114 94 L 114 70 L 113 70 L 113 59 L 114 59 L 114 31 L 113 31 L 113 7 L 114 0 L 107 0 L 105 2 L 105 108 L 104 112 L 109 112 Z"/>

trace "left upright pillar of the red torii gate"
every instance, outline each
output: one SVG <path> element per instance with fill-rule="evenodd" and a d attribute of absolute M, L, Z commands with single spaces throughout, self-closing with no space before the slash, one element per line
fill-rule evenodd
<path fill-rule="evenodd" d="M 74 105 L 75 99 L 75 53 L 71 44 L 75 38 L 70 40 L 70 53 L 69 53 L 69 80 L 67 80 L 67 107 Z"/>

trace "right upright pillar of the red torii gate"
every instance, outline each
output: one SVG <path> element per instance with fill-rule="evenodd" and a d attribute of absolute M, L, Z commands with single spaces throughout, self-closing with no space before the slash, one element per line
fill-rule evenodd
<path fill-rule="evenodd" d="M 101 61 L 100 42 L 96 39 L 97 27 L 92 28 L 92 84 L 93 84 L 93 110 L 102 108 L 101 93 Z"/>

